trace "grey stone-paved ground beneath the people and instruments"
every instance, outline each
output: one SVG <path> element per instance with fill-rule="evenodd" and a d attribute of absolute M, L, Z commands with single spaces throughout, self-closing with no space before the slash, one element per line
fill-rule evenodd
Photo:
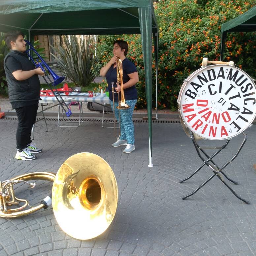
<path fill-rule="evenodd" d="M 52 208 L 18 219 L 0 218 L 1 256 L 256 255 L 256 125 L 246 131 L 244 148 L 225 169 L 239 181 L 237 186 L 228 184 L 250 205 L 237 199 L 216 177 L 195 195 L 181 199 L 212 173 L 204 168 L 187 182 L 178 182 L 201 165 L 179 124 L 153 124 L 152 168 L 147 166 L 147 123 L 135 123 L 136 150 L 123 154 L 121 147 L 111 147 L 112 129 L 102 128 L 99 122 L 58 128 L 56 121 L 50 121 L 48 133 L 40 122 L 35 129 L 35 143 L 43 152 L 35 161 L 14 159 L 16 125 L 15 120 L 0 120 L 1 180 L 32 171 L 57 172 L 69 156 L 92 152 L 113 169 L 118 207 L 109 229 L 88 241 L 72 239 L 62 232 Z M 232 139 L 216 162 L 227 161 L 241 139 L 240 135 Z M 51 186 L 50 182 L 38 181 L 34 190 L 26 190 L 23 185 L 17 191 L 20 198 L 36 205 L 49 194 Z"/>

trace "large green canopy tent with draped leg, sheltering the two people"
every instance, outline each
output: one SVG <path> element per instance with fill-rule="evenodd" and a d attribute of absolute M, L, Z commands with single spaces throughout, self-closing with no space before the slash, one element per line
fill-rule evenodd
<path fill-rule="evenodd" d="M 141 34 L 152 166 L 152 33 L 155 53 L 158 26 L 152 0 L 8 0 L 0 2 L 0 31 L 35 35 Z M 157 54 L 156 56 L 156 70 Z M 156 79 L 157 81 L 157 79 Z"/>

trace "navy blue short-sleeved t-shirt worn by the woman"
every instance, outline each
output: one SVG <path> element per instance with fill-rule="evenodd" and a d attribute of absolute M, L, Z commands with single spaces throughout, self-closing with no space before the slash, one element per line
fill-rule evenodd
<path fill-rule="evenodd" d="M 110 67 L 110 69 L 108 70 L 108 72 L 106 74 L 106 80 L 108 82 L 108 89 L 109 89 L 109 98 L 110 98 L 111 101 L 113 101 L 113 98 L 112 98 L 112 84 L 111 83 L 114 82 L 114 87 L 117 87 L 117 85 L 116 85 L 116 82 L 117 82 L 116 67 L 113 68 L 113 66 L 114 66 L 114 64 Z M 134 72 L 137 72 L 137 68 L 127 58 L 125 58 L 122 61 L 122 66 L 123 66 L 123 84 L 124 84 L 124 83 L 126 83 L 130 80 L 128 74 L 132 74 Z M 137 95 L 137 89 L 136 89 L 135 85 L 124 89 L 124 98 L 125 98 L 125 100 L 137 100 L 138 95 Z M 115 100 L 115 102 L 118 101 L 118 94 L 117 93 L 114 93 L 114 100 Z"/>

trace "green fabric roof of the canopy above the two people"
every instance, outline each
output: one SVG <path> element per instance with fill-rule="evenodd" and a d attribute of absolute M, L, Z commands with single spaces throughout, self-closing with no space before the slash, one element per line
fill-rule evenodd
<path fill-rule="evenodd" d="M 152 1 L 8 0 L 0 3 L 0 26 L 30 35 L 140 34 L 143 7 L 153 10 Z M 154 11 L 151 26 L 157 32 Z"/>

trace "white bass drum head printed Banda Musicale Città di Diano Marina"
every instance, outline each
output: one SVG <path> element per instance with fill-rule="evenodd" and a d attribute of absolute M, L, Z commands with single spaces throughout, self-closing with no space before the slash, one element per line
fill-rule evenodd
<path fill-rule="evenodd" d="M 182 127 L 196 139 L 225 140 L 247 129 L 256 115 L 256 86 L 241 69 L 211 65 L 193 72 L 178 97 Z"/>

